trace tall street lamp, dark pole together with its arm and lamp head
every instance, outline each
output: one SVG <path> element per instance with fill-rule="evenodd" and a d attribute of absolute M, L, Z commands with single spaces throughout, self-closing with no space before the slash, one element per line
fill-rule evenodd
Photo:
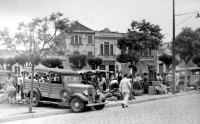
<path fill-rule="evenodd" d="M 196 11 L 196 12 L 191 12 L 191 13 L 184 13 L 184 14 L 178 14 L 178 15 L 175 15 L 175 2 L 173 0 L 173 39 L 172 39 L 172 54 L 173 54 L 173 63 L 172 63 L 172 75 L 173 75 L 173 83 L 172 83 L 172 94 L 175 94 L 176 92 L 176 85 L 175 85 L 175 71 L 176 71 L 176 66 L 175 66 L 175 16 L 181 16 L 181 15 L 187 15 L 187 14 L 194 14 L 194 13 L 197 13 L 197 16 L 196 18 L 199 18 L 200 15 L 199 15 L 199 12 Z M 185 20 L 184 20 L 185 21 Z M 181 22 L 182 23 L 182 22 Z"/>

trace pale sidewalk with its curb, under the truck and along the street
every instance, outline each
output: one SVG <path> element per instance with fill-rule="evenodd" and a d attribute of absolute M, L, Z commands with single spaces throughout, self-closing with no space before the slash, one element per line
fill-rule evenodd
<path fill-rule="evenodd" d="M 179 97 L 184 95 L 198 94 L 199 91 L 191 90 L 185 93 L 176 93 L 176 94 L 163 94 L 163 95 L 142 95 L 136 96 L 136 100 L 129 101 L 129 104 L 138 104 L 142 102 L 154 101 L 159 99 L 167 99 L 173 97 Z M 0 94 L 0 97 L 3 94 Z M 18 96 L 19 99 L 19 96 Z M 121 106 L 120 101 L 108 101 L 105 108 Z M 16 121 L 28 118 L 37 118 L 58 114 L 70 113 L 70 108 L 66 107 L 55 107 L 55 106 L 42 106 L 42 107 L 33 107 L 33 113 L 28 113 L 28 105 L 24 104 L 0 104 L 0 123 L 8 121 Z"/>

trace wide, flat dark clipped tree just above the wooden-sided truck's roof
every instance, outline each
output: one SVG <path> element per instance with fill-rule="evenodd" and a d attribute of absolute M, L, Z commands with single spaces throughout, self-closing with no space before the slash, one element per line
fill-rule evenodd
<path fill-rule="evenodd" d="M 45 58 L 41 61 L 41 64 L 49 68 L 62 68 L 62 60 L 57 58 Z"/>

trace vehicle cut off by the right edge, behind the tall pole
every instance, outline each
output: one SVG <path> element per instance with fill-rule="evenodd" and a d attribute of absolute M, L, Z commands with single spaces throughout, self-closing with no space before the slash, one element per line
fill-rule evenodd
<path fill-rule="evenodd" d="M 179 85 L 185 81 L 185 68 L 178 68 L 176 70 L 179 74 Z M 199 89 L 200 85 L 200 67 L 189 67 L 187 85 L 193 86 L 195 89 Z"/>

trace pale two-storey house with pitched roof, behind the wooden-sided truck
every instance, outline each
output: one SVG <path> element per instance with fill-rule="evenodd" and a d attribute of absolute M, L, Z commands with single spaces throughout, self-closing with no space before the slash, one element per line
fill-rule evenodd
<path fill-rule="evenodd" d="M 95 31 L 80 24 L 75 23 L 73 32 L 67 35 L 65 42 L 65 56 L 66 61 L 64 68 L 71 69 L 68 57 L 71 55 L 87 55 L 88 58 L 95 57 Z M 89 66 L 85 67 L 89 69 Z"/>

